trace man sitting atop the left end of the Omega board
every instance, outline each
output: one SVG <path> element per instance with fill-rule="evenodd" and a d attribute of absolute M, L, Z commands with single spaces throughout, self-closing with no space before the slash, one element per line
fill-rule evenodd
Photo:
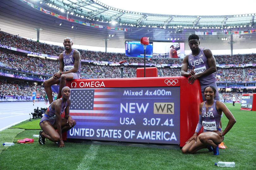
<path fill-rule="evenodd" d="M 51 78 L 44 82 L 44 88 L 51 104 L 53 84 L 59 83 L 59 91 L 57 99 L 60 99 L 61 89 L 66 85 L 66 80 L 80 79 L 81 77 L 81 57 L 79 51 L 72 48 L 73 42 L 71 38 L 65 38 L 63 45 L 65 51 L 59 55 L 59 71 Z"/>

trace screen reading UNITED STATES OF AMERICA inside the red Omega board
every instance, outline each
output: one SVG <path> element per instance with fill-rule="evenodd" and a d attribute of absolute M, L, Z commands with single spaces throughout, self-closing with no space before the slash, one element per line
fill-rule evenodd
<path fill-rule="evenodd" d="M 72 89 L 70 112 L 79 123 L 68 137 L 179 144 L 179 94 L 179 87 Z"/>

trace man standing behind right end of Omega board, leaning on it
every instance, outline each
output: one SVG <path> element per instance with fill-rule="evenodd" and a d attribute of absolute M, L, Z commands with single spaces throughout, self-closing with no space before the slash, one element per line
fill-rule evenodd
<path fill-rule="evenodd" d="M 216 84 L 216 78 L 214 72 L 216 72 L 216 61 L 208 48 L 199 48 L 199 37 L 196 34 L 192 34 L 188 37 L 188 45 L 192 53 L 186 55 L 183 59 L 181 66 L 181 76 L 190 76 L 188 82 L 193 84 L 196 79 L 199 79 L 203 101 L 204 88 L 207 86 L 213 86 L 216 89 L 215 100 L 220 100 L 219 92 Z M 191 69 L 187 72 L 188 67 Z"/>

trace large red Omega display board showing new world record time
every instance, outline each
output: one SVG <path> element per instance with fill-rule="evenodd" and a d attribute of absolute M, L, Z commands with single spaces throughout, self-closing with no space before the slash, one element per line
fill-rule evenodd
<path fill-rule="evenodd" d="M 67 138 L 185 145 L 197 126 L 199 81 L 183 76 L 78 79 L 71 88 Z"/>

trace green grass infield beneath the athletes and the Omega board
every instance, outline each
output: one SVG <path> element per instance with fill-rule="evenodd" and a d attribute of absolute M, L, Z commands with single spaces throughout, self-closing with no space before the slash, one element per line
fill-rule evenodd
<path fill-rule="evenodd" d="M 256 111 L 241 111 L 240 105 L 226 104 L 237 123 L 225 135 L 227 149 L 214 156 L 207 149 L 196 154 L 182 154 L 181 150 L 111 146 L 65 142 L 58 148 L 49 141 L 45 145 L 17 144 L 0 146 L 0 169 L 227 169 L 214 166 L 218 161 L 234 161 L 234 169 L 256 169 Z M 38 121 L 38 120 L 36 120 Z M 38 134 L 36 121 L 23 122 L 15 128 L 0 132 L 0 142 L 32 138 Z M 225 129 L 228 119 L 222 117 Z M 18 129 L 23 128 L 23 129 Z"/>

